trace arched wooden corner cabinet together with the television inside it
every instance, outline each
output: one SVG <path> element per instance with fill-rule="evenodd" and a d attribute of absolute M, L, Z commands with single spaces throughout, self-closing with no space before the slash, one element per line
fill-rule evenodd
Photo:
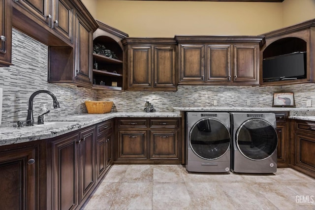
<path fill-rule="evenodd" d="M 265 34 L 261 49 L 260 85 L 315 82 L 315 19 Z"/>

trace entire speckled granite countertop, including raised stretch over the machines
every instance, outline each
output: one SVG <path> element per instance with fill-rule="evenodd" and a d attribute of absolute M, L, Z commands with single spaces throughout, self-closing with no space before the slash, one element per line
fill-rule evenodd
<path fill-rule="evenodd" d="M 71 122 L 68 125 L 55 128 L 45 127 L 27 127 L 22 128 L 11 125 L 0 126 L 0 146 L 18 144 L 23 142 L 30 142 L 41 139 L 49 139 L 56 136 L 60 136 L 71 131 L 75 131 L 90 125 L 97 124 L 99 122 L 110 120 L 116 117 L 149 117 L 149 118 L 179 118 L 182 111 L 226 111 L 226 112 L 276 112 L 276 111 L 297 111 L 297 112 L 314 112 L 315 108 L 287 108 L 287 107 L 174 107 L 174 112 L 114 112 L 107 114 L 82 114 L 68 116 L 66 119 L 50 119 L 50 121 L 68 121 Z M 290 119 L 298 120 L 311 120 L 315 121 L 315 116 L 289 116 Z"/>

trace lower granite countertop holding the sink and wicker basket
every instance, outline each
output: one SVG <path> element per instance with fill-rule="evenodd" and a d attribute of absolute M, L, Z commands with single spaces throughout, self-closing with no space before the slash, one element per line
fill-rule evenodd
<path fill-rule="evenodd" d="M 110 120 L 113 118 L 125 118 L 125 117 L 150 117 L 150 118 L 178 118 L 181 117 L 175 112 L 114 112 L 107 114 L 82 114 L 69 116 L 66 119 L 50 119 L 49 121 L 68 121 L 73 122 L 69 125 L 56 127 L 56 128 L 45 128 L 37 126 L 24 126 L 16 127 L 11 125 L 0 126 L 0 146 L 18 144 L 23 142 L 30 142 L 41 139 L 49 139 L 56 136 L 69 133 L 90 125 L 97 124 L 99 122 Z"/>

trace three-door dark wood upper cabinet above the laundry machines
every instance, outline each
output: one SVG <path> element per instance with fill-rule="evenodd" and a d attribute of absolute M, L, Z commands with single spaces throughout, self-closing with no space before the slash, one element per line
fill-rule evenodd
<path fill-rule="evenodd" d="M 263 36 L 175 36 L 180 85 L 259 85 Z"/>

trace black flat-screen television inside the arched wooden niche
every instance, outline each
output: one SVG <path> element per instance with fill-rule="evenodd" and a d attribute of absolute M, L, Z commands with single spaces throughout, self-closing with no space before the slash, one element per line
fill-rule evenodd
<path fill-rule="evenodd" d="M 262 79 L 264 82 L 306 78 L 306 52 L 295 52 L 264 59 Z"/>

